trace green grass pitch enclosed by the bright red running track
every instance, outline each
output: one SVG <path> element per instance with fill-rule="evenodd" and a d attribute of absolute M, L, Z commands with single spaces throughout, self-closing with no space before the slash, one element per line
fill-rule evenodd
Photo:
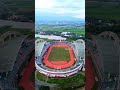
<path fill-rule="evenodd" d="M 51 53 L 48 57 L 49 61 L 53 61 L 53 60 L 65 60 L 65 61 L 69 61 L 70 60 L 70 54 L 69 54 L 69 50 L 66 47 L 53 47 L 51 50 Z"/>

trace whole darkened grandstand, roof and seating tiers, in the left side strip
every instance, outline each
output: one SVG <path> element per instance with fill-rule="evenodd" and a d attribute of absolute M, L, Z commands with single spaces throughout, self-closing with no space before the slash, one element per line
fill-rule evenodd
<path fill-rule="evenodd" d="M 17 90 L 19 70 L 29 56 L 30 44 L 26 43 L 28 37 L 15 31 L 1 34 L 0 90 Z"/>

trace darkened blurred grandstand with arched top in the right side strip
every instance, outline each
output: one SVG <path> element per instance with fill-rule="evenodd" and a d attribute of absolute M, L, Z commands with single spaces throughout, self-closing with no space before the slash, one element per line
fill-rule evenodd
<path fill-rule="evenodd" d="M 110 31 L 103 32 L 88 40 L 86 46 L 90 49 L 92 62 L 99 77 L 98 90 L 120 89 L 120 39 Z"/>

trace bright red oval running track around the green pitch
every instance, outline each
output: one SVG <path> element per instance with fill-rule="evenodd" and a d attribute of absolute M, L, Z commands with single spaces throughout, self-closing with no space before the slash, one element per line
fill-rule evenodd
<path fill-rule="evenodd" d="M 51 52 L 51 50 L 52 50 L 53 47 L 66 47 L 66 48 L 68 48 L 69 54 L 70 54 L 70 60 L 69 60 L 69 62 L 67 62 L 65 60 L 61 60 L 61 61 L 57 61 L 57 60 L 49 61 L 48 57 L 49 57 L 50 52 Z M 43 62 L 45 63 L 46 66 L 48 66 L 50 68 L 54 68 L 54 69 L 68 68 L 68 67 L 72 66 L 74 64 L 74 62 L 75 62 L 74 61 L 73 50 L 72 50 L 72 48 L 69 45 L 63 44 L 63 43 L 51 45 L 49 47 L 49 49 L 48 49 L 48 52 L 44 56 Z"/>

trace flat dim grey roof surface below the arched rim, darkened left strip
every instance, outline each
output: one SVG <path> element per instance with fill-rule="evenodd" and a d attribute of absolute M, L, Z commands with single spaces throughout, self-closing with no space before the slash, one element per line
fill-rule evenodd
<path fill-rule="evenodd" d="M 26 36 L 10 39 L 0 47 L 0 72 L 11 71 L 16 61 L 20 46 Z"/>

